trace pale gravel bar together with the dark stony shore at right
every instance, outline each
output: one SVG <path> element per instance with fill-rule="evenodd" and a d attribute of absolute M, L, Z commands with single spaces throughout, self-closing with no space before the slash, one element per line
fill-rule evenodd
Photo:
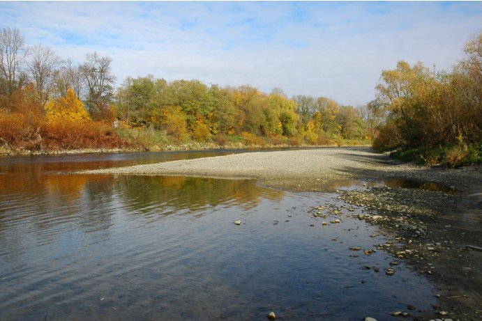
<path fill-rule="evenodd" d="M 354 215 L 381 226 L 396 240 L 393 246 L 381 244 L 380 249 L 407 260 L 435 284 L 440 303 L 427 320 L 481 318 L 482 252 L 467 247 L 482 246 L 480 165 L 429 169 L 393 161 L 370 148 L 321 148 L 251 152 L 83 173 L 255 178 L 259 185 L 279 189 L 338 189 L 343 201 L 358 207 Z M 403 184 L 390 185 L 390 180 L 425 185 L 419 186 L 422 189 L 406 189 L 399 188 Z"/>

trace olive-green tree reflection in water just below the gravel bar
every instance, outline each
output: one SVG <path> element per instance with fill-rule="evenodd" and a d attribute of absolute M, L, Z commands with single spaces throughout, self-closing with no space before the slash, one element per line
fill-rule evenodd
<path fill-rule="evenodd" d="M 183 176 L 123 175 L 116 191 L 125 206 L 143 213 L 201 210 L 208 206 L 253 208 L 261 198 L 280 199 L 282 191 L 256 186 L 255 180 L 221 180 Z M 169 210 L 166 210 L 169 209 Z"/>

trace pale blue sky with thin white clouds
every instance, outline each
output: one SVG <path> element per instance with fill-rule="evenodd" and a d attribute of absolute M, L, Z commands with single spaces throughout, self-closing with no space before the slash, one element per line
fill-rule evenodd
<path fill-rule="evenodd" d="M 0 1 L 6 27 L 74 62 L 110 56 L 116 85 L 199 79 L 356 106 L 397 61 L 451 68 L 482 32 L 482 2 Z"/>

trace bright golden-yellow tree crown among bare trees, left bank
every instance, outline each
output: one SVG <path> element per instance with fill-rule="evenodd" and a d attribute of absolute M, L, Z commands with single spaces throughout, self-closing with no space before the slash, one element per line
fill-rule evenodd
<path fill-rule="evenodd" d="M 85 121 L 91 120 L 84 104 L 77 99 L 73 89 L 69 88 L 66 97 L 50 100 L 45 106 L 47 122 Z"/>

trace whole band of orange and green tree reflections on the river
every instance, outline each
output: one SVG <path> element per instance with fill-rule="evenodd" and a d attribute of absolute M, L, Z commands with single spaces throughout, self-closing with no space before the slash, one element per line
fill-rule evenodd
<path fill-rule="evenodd" d="M 17 169 L 22 171 L 0 175 L 0 232 L 6 229 L 13 232 L 17 224 L 32 224 L 33 230 L 46 232 L 36 233 L 42 242 L 55 237 L 48 230 L 66 223 L 80 224 L 86 232 L 107 230 L 112 224 L 112 214 L 119 210 L 202 214 L 202 210 L 218 205 L 253 208 L 262 198 L 283 197 L 282 191 L 257 187 L 255 180 L 43 175 L 41 166 Z"/>

